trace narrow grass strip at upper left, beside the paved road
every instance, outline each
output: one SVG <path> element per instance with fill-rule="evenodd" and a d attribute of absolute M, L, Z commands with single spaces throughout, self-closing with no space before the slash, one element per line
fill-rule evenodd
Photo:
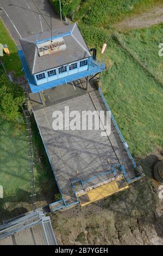
<path fill-rule="evenodd" d="M 23 73 L 21 72 L 22 70 L 22 65 L 20 62 L 20 58 L 18 57 L 17 54 L 17 48 L 10 37 L 9 32 L 5 28 L 2 20 L 0 19 L 0 43 L 1 44 L 7 44 L 10 55 L 5 55 L 2 57 L 2 61 L 4 64 L 4 67 L 7 69 L 7 72 L 14 72 L 14 76 L 21 76 Z"/>

